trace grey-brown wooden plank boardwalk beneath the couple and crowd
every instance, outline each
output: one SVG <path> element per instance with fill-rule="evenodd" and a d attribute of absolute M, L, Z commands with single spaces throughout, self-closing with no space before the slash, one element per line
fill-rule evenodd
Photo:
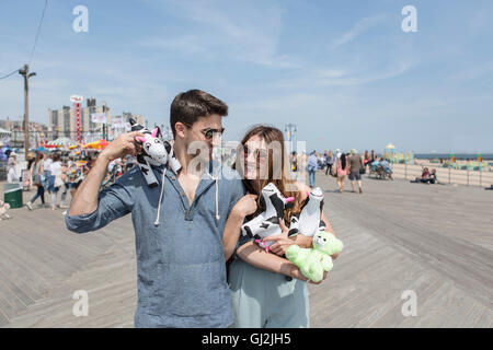
<path fill-rule="evenodd" d="M 345 248 L 309 287 L 312 327 L 492 327 L 493 191 L 365 178 L 363 195 L 339 194 L 332 177 L 317 182 Z M 0 221 L 0 327 L 133 327 L 130 218 L 78 235 L 61 212 L 16 209 Z M 89 316 L 72 314 L 78 290 Z M 402 315 L 406 290 L 416 316 Z"/>

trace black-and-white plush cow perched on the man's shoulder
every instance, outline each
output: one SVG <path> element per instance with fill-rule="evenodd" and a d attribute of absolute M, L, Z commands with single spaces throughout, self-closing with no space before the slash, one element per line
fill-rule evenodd
<path fill-rule="evenodd" d="M 137 124 L 135 119 L 130 118 L 131 131 L 140 131 L 144 137 L 136 139 L 142 143 L 142 152 L 137 154 L 137 164 L 146 178 L 149 187 L 158 186 L 158 179 L 151 170 L 151 165 L 159 166 L 168 164 L 177 174 L 181 168 L 179 160 L 174 156 L 173 148 L 168 141 L 161 139 L 161 130 L 156 127 L 149 131 L 144 126 Z"/>

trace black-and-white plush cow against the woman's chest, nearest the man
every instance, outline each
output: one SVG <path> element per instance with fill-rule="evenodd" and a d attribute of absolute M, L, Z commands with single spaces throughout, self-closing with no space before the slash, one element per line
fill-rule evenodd
<path fill-rule="evenodd" d="M 242 235 L 255 238 L 255 242 L 268 252 L 268 246 L 274 244 L 274 242 L 263 243 L 262 240 L 282 233 L 279 219 L 283 218 L 286 205 L 291 202 L 294 198 L 285 198 L 277 187 L 273 183 L 270 183 L 262 188 L 260 200 L 265 211 L 244 223 L 241 226 L 241 233 Z"/>

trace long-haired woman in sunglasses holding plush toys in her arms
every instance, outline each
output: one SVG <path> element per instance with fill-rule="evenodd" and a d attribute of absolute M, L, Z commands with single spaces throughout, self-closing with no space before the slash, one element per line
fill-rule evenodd
<path fill-rule="evenodd" d="M 278 147 L 270 147 L 274 144 Z M 280 130 L 254 127 L 243 138 L 241 147 L 243 149 L 237 151 L 240 158 L 236 167 L 249 194 L 233 207 L 223 235 L 226 260 L 238 243 L 229 269 L 236 327 L 309 327 L 307 279 L 284 255 L 291 244 L 311 247 L 312 240 L 303 235 L 288 237 L 288 230 L 282 222 L 283 233 L 264 240 L 275 242 L 270 247 L 272 253 L 266 253 L 253 238 L 240 237 L 240 229 L 245 219 L 251 220 L 264 210 L 259 194 L 266 184 L 274 183 L 285 197 L 295 198 L 293 208 L 284 212 L 284 222 L 290 222 L 291 215 L 300 212 L 310 188 L 287 177 L 289 162 Z M 274 162 L 280 164 L 275 166 Z M 324 214 L 322 220 L 332 232 Z"/>

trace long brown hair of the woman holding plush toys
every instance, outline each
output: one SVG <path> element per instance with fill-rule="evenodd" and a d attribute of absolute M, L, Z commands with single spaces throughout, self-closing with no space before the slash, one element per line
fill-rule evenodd
<path fill-rule="evenodd" d="M 284 221 L 286 225 L 289 225 L 289 221 L 294 214 L 297 214 L 301 211 L 301 206 L 303 200 L 301 199 L 301 192 L 299 190 L 296 190 L 295 180 L 289 178 L 289 161 L 286 154 L 286 150 L 284 148 L 284 136 L 283 131 L 280 131 L 277 128 L 259 125 L 252 127 L 246 135 L 241 140 L 241 143 L 237 148 L 237 161 L 233 164 L 233 168 L 237 168 L 238 172 L 241 175 L 241 178 L 243 179 L 243 184 L 246 188 L 246 190 L 250 194 L 260 195 L 252 186 L 251 182 L 244 177 L 244 145 L 245 143 L 254 136 L 260 137 L 268 148 L 268 168 L 267 176 L 264 176 L 266 178 L 261 179 L 261 186 L 260 188 L 264 188 L 265 185 L 268 183 L 273 183 L 276 185 L 276 187 L 279 189 L 279 191 L 283 194 L 283 196 L 287 197 L 294 197 L 294 206 L 291 208 L 287 208 L 284 211 Z M 279 144 L 280 145 L 280 154 L 274 153 L 274 150 L 272 147 L 273 144 Z M 276 159 L 275 159 L 276 158 Z M 238 164 L 238 161 L 241 160 L 240 164 Z M 274 164 L 274 161 L 276 161 L 276 164 Z M 280 164 L 279 164 L 280 163 Z M 239 166 L 237 166 L 239 165 Z M 278 165 L 278 166 L 274 166 Z M 280 167 L 280 168 L 279 168 Z M 280 171 L 280 172 L 279 172 Z M 259 176 L 259 174 L 257 174 Z M 257 198 L 257 209 L 254 214 L 252 214 L 250 218 L 255 218 L 259 215 L 262 211 L 265 210 L 265 208 L 262 208 L 260 196 Z"/>

